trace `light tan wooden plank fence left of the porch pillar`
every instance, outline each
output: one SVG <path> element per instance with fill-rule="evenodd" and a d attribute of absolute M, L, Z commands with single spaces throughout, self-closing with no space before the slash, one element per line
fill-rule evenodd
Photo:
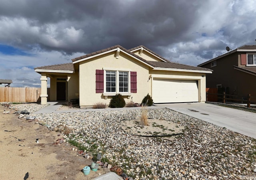
<path fill-rule="evenodd" d="M 38 102 L 41 88 L 37 87 L 0 87 L 0 102 Z"/>

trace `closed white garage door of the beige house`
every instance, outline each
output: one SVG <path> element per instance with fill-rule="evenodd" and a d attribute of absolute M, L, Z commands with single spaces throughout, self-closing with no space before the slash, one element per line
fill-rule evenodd
<path fill-rule="evenodd" d="M 154 103 L 198 102 L 198 83 L 194 80 L 154 79 Z"/>

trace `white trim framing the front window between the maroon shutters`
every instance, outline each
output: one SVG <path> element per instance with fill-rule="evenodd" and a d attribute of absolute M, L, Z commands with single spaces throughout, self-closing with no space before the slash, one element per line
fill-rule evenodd
<path fill-rule="evenodd" d="M 131 71 L 128 71 L 130 69 L 115 69 L 115 68 L 103 68 L 104 70 L 104 91 L 103 96 L 105 99 L 108 98 L 108 96 L 114 96 L 116 94 L 120 94 L 122 96 L 128 96 L 128 99 L 130 99 L 132 93 L 131 93 Z M 116 92 L 106 92 L 106 71 L 116 71 Z M 128 92 L 119 92 L 119 71 L 128 71 Z"/>

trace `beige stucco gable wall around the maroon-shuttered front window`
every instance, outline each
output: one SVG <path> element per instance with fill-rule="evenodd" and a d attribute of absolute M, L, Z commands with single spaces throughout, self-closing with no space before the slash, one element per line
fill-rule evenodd
<path fill-rule="evenodd" d="M 96 69 L 124 70 L 137 72 L 137 93 L 132 93 L 130 99 L 125 96 L 126 103 L 134 101 L 141 103 L 147 95 L 150 81 L 148 81 L 148 65 L 122 53 L 116 59 L 116 52 L 110 52 L 92 59 L 82 61 L 79 65 L 79 98 L 80 106 L 90 106 L 101 102 L 109 105 L 112 96 L 104 99 L 103 93 L 96 93 Z"/>

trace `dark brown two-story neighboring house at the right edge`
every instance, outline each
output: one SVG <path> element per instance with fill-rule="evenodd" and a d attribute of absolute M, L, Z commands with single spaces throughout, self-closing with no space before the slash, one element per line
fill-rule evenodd
<path fill-rule="evenodd" d="M 237 95 L 234 99 L 246 99 L 249 93 L 256 96 L 256 45 L 243 45 L 198 67 L 213 70 L 206 75 L 206 87 L 222 88 Z"/>

